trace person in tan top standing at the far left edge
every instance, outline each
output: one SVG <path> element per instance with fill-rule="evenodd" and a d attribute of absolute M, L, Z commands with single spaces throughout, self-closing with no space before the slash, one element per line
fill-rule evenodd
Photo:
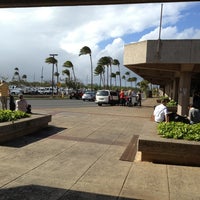
<path fill-rule="evenodd" d="M 2 104 L 3 110 L 7 110 L 7 108 L 8 108 L 8 96 L 9 96 L 8 84 L 4 80 L 1 80 L 0 98 L 1 98 L 1 104 Z"/>

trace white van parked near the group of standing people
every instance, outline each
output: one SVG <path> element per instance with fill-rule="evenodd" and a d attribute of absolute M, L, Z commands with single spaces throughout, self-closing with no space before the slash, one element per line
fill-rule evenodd
<path fill-rule="evenodd" d="M 119 103 L 118 93 L 111 90 L 98 90 L 96 93 L 95 103 L 98 106 L 102 106 L 102 104 L 110 104 L 115 105 Z"/>

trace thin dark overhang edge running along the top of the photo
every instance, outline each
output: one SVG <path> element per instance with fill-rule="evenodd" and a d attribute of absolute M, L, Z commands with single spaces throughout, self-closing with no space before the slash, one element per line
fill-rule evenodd
<path fill-rule="evenodd" d="M 176 2 L 194 2 L 198 0 L 176 0 Z M 3 0 L 0 8 L 39 7 L 39 6 L 77 6 L 77 5 L 109 5 L 132 3 L 162 3 L 173 0 Z"/>

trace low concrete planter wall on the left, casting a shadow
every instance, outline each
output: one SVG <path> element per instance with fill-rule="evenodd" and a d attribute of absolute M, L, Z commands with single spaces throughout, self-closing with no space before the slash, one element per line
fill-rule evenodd
<path fill-rule="evenodd" d="M 0 123 L 0 143 L 31 134 L 48 126 L 51 115 L 32 114 L 30 118 L 24 118 L 12 122 Z"/>

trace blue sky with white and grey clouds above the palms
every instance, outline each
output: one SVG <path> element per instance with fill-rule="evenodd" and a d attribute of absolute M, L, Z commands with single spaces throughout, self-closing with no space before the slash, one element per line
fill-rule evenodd
<path fill-rule="evenodd" d="M 161 39 L 200 39 L 199 10 L 200 2 L 164 3 Z M 42 74 L 51 80 L 52 65 L 45 59 L 55 53 L 61 79 L 69 60 L 76 77 L 90 83 L 89 55 L 79 56 L 84 46 L 92 51 L 94 68 L 101 57 L 110 56 L 119 60 L 124 75 L 129 71 L 123 66 L 124 45 L 158 39 L 160 13 L 159 3 L 1 8 L 0 78 L 10 81 L 17 67 L 28 81 L 41 81 Z M 142 80 L 133 72 L 131 77 Z"/>

